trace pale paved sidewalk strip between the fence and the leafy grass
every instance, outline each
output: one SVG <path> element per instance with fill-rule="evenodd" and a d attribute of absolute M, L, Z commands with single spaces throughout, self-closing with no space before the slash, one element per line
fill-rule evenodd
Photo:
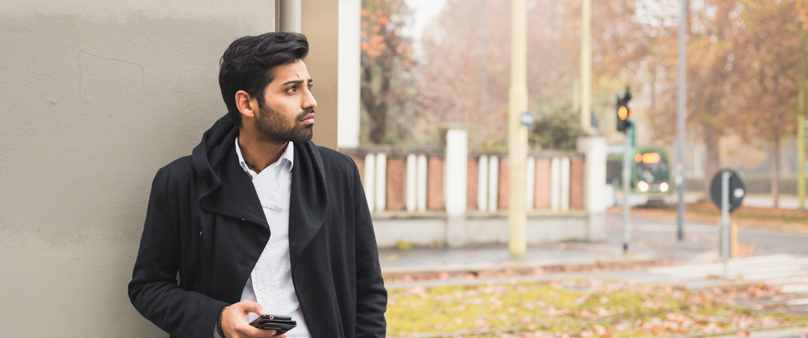
<path fill-rule="evenodd" d="M 382 273 L 391 287 L 480 283 L 508 277 L 588 278 L 593 274 L 619 279 L 652 267 L 720 261 L 715 224 L 688 222 L 685 240 L 679 242 L 672 221 L 635 217 L 628 253 L 622 250 L 622 236 L 620 217 L 609 216 L 604 241 L 530 245 L 523 256 L 512 256 L 506 245 L 495 244 L 382 249 L 379 254 Z M 741 257 L 808 257 L 805 235 L 740 228 L 738 238 Z"/>

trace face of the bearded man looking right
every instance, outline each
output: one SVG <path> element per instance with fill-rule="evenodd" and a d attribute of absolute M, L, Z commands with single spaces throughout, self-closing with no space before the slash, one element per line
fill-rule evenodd
<path fill-rule="evenodd" d="M 311 94 L 311 77 L 303 60 L 272 69 L 275 78 L 264 88 L 264 102 L 255 126 L 262 140 L 308 142 L 314 127 L 317 101 Z"/>

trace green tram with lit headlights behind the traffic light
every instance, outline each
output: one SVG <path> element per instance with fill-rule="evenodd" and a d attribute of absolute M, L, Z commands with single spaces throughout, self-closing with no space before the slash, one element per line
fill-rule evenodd
<path fill-rule="evenodd" d="M 647 198 L 647 204 L 660 205 L 673 192 L 671 168 L 660 147 L 634 147 L 631 154 L 631 195 Z M 623 189 L 623 146 L 610 145 L 606 154 L 606 180 L 615 191 Z"/>

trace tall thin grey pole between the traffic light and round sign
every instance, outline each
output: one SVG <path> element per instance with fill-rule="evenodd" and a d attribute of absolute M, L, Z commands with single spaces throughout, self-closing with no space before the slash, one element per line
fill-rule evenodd
<path fill-rule="evenodd" d="M 681 242 L 685 238 L 685 108 L 687 104 L 687 0 L 682 0 L 682 12 L 679 15 L 679 85 L 677 91 L 678 110 L 676 112 L 676 238 Z"/>

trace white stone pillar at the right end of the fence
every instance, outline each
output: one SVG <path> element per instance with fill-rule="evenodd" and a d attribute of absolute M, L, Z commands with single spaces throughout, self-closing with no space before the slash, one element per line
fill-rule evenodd
<path fill-rule="evenodd" d="M 587 239 L 606 238 L 606 138 L 586 135 L 578 138 L 578 151 L 584 153 L 584 208 L 589 214 Z"/>

